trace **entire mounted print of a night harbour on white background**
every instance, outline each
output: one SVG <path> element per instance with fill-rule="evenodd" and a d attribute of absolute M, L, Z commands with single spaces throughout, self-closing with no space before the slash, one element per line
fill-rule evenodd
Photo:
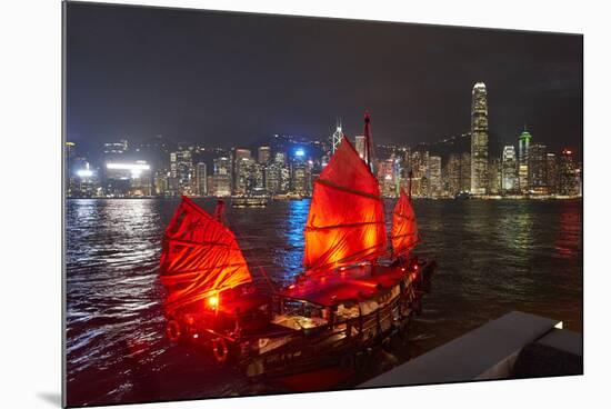
<path fill-rule="evenodd" d="M 63 403 L 581 375 L 583 37 L 63 3 Z"/>

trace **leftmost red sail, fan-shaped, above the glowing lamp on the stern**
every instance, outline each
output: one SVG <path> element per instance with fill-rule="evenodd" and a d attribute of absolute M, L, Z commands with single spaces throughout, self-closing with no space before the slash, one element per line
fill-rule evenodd
<path fill-rule="evenodd" d="M 233 233 L 182 197 L 163 236 L 161 283 L 168 290 L 166 313 L 250 281 Z"/>

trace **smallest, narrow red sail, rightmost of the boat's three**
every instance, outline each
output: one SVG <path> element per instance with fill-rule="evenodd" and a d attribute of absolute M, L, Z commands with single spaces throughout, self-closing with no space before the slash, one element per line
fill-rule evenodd
<path fill-rule="evenodd" d="M 401 194 L 392 211 L 391 241 L 395 257 L 409 253 L 418 243 L 415 213 L 411 206 L 411 199 L 408 198 L 403 189 L 401 189 Z"/>

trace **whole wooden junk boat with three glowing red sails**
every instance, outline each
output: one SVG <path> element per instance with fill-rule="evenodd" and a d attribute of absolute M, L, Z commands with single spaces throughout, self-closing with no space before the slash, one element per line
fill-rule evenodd
<path fill-rule="evenodd" d="M 388 249 L 378 180 L 347 138 L 314 183 L 303 272 L 289 286 L 277 288 L 262 269 L 271 290 L 253 285 L 222 208 L 219 201 L 210 216 L 183 197 L 164 232 L 160 278 L 172 342 L 249 377 L 277 377 L 332 366 L 360 371 L 372 351 L 407 340 L 435 263 L 410 256 L 419 236 L 404 191 Z"/>

